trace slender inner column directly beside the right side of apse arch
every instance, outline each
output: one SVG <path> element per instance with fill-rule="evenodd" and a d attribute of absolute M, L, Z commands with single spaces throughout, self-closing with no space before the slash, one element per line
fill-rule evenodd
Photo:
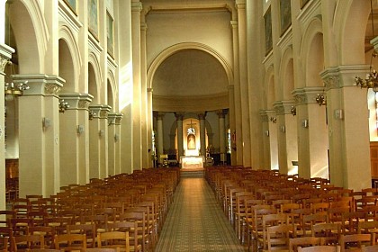
<path fill-rule="evenodd" d="M 231 21 L 232 27 L 232 45 L 233 45 L 233 63 L 234 63 L 234 103 L 235 103 L 235 130 L 231 130 L 232 134 L 232 150 L 234 152 L 234 159 L 236 159 L 233 165 L 243 165 L 243 138 L 241 127 L 241 91 L 240 91 L 240 74 L 238 64 L 238 21 Z M 235 155 L 236 154 L 236 155 Z"/>

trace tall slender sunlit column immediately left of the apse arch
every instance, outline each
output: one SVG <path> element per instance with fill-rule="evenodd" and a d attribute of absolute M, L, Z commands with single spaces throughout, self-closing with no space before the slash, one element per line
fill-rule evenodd
<path fill-rule="evenodd" d="M 141 134 L 142 134 L 142 168 L 148 168 L 151 158 L 149 158 L 148 139 L 148 88 L 147 88 L 147 49 L 146 49 L 146 31 L 147 23 L 145 21 L 145 13 L 141 13 L 140 21 L 140 83 L 141 83 Z"/>

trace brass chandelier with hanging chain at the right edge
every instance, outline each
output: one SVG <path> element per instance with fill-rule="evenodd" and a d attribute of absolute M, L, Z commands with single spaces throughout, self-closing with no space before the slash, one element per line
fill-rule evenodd
<path fill-rule="evenodd" d="M 370 14 L 372 16 L 372 31 L 373 31 L 373 38 L 375 38 L 374 35 L 374 13 L 373 13 L 373 1 L 370 0 Z M 377 57 L 378 52 L 374 49 L 372 53 L 372 57 L 370 58 L 370 67 L 369 67 L 369 73 L 366 74 L 365 80 L 359 76 L 355 77 L 356 85 L 361 86 L 361 88 L 372 88 L 373 91 L 376 93 L 378 92 L 378 73 L 373 68 L 373 58 Z"/>

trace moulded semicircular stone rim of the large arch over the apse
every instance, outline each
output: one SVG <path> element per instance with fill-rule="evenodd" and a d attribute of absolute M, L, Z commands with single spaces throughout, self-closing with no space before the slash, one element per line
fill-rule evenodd
<path fill-rule="evenodd" d="M 147 85 L 148 88 L 152 88 L 152 81 L 154 79 L 155 72 L 157 71 L 157 68 L 160 66 L 163 61 L 168 58 L 169 56 L 175 54 L 175 52 L 183 49 L 201 49 L 207 53 L 209 53 L 214 58 L 217 58 L 221 64 L 221 66 L 224 68 L 229 85 L 233 85 L 233 73 L 232 68 L 229 66 L 229 63 L 227 62 L 226 58 L 223 58 L 223 56 L 220 55 L 219 52 L 217 52 L 215 49 L 212 49 L 211 47 L 204 45 L 202 43 L 196 43 L 196 42 L 184 42 L 184 43 L 178 43 L 171 47 L 166 48 L 163 50 L 157 58 L 155 58 L 151 65 L 148 67 L 148 73 L 147 73 Z"/>

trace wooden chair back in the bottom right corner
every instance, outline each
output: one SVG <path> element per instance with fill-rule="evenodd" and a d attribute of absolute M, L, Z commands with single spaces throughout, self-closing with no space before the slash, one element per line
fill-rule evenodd
<path fill-rule="evenodd" d="M 375 245 L 375 234 L 341 235 L 338 244 L 341 252 L 361 251 L 363 246 Z"/>

